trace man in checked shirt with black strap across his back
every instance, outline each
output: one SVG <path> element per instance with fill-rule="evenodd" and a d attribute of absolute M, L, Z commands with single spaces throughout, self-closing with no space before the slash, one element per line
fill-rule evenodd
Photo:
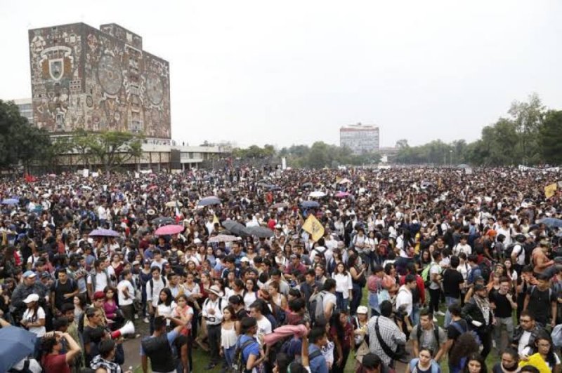
<path fill-rule="evenodd" d="M 373 316 L 367 324 L 369 348 L 372 353 L 379 355 L 386 365 L 394 367 L 399 349 L 406 344 L 406 335 L 402 332 L 403 322 L 398 318 L 395 323 L 391 318 L 392 304 L 390 301 L 382 301 L 380 308 L 381 316 Z"/>

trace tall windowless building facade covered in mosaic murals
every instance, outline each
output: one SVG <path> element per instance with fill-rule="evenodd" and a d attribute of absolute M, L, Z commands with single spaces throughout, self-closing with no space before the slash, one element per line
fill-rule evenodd
<path fill-rule="evenodd" d="M 115 24 L 31 29 L 34 123 L 52 133 L 120 130 L 171 138 L 169 63 Z"/>

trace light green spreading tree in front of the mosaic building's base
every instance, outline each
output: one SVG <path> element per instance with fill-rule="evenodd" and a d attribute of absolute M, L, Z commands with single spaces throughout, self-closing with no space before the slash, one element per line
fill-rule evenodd
<path fill-rule="evenodd" d="M 110 172 L 131 158 L 143 154 L 143 136 L 119 131 L 107 131 L 92 136 L 91 152 L 103 165 L 105 172 Z"/>

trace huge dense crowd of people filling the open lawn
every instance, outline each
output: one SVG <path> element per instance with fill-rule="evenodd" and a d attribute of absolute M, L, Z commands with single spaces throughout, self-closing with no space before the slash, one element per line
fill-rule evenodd
<path fill-rule="evenodd" d="M 559 177 L 230 168 L 2 179 L 0 335 L 36 337 L 10 369 L 119 373 L 134 339 L 155 373 L 560 372 L 562 199 L 544 194 Z M 303 229 L 309 219 L 323 233 Z"/>

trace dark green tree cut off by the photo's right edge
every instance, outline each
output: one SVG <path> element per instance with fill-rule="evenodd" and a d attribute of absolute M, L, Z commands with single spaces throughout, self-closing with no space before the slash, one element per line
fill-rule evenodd
<path fill-rule="evenodd" d="M 548 111 L 539 128 L 538 143 L 545 162 L 562 164 L 562 111 Z"/>

